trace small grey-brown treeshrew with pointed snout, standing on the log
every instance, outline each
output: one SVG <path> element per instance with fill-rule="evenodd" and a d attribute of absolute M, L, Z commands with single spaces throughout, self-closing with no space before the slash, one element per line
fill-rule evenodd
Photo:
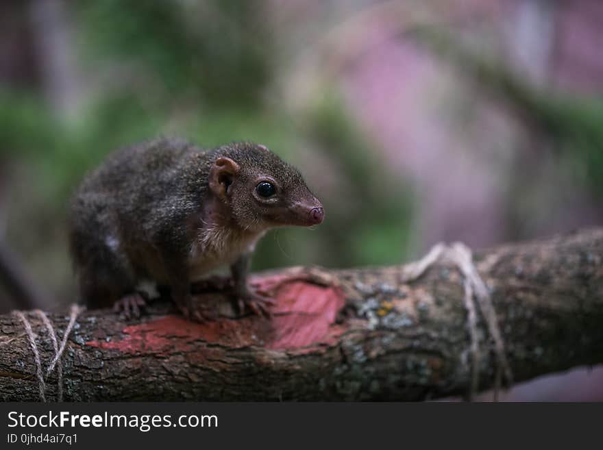
<path fill-rule="evenodd" d="M 238 305 L 266 312 L 269 299 L 247 285 L 254 246 L 268 229 L 321 223 L 324 210 L 297 169 L 263 145 L 206 150 L 160 138 L 110 155 L 71 203 L 69 241 L 82 300 L 144 305 L 137 286 L 168 286 L 187 316 L 191 282 L 222 264 Z"/>

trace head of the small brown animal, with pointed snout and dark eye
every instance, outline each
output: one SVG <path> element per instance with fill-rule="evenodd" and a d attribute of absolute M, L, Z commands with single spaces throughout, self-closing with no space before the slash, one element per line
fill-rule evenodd
<path fill-rule="evenodd" d="M 261 232 L 280 225 L 308 227 L 325 210 L 296 168 L 264 145 L 242 142 L 219 147 L 209 187 L 243 229 Z"/>

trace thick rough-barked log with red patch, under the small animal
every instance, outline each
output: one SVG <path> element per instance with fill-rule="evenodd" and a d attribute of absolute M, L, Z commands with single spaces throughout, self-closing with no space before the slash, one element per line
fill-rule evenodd
<path fill-rule="evenodd" d="M 603 362 L 603 229 L 504 245 L 474 256 L 497 313 L 515 381 Z M 274 289 L 270 319 L 236 317 L 224 292 L 197 297 L 215 321 L 193 323 L 169 301 L 125 323 L 82 313 L 62 355 L 68 401 L 426 400 L 464 395 L 471 345 L 463 276 L 437 262 L 414 282 L 402 266 L 258 276 Z M 282 283 L 278 284 L 278 282 Z M 479 310 L 478 310 L 479 311 Z M 44 370 L 54 352 L 36 314 Z M 62 336 L 69 319 L 49 316 Z M 34 354 L 23 324 L 0 316 L 0 397 L 37 401 Z M 496 358 L 478 314 L 480 389 Z M 56 371 L 47 399 L 57 393 Z"/>

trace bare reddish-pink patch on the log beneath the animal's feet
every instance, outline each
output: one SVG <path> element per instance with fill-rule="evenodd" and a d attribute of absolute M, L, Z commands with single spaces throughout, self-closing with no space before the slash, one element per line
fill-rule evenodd
<path fill-rule="evenodd" d="M 274 281 L 273 277 L 256 280 L 258 283 Z M 341 289 L 302 281 L 284 282 L 274 297 L 277 304 L 269 319 L 245 316 L 194 323 L 172 315 L 127 326 L 122 330 L 121 340 L 94 340 L 87 345 L 130 354 L 159 355 L 188 352 L 199 347 L 199 340 L 230 349 L 258 345 L 299 350 L 334 342 L 341 333 L 341 327 L 335 324 L 336 315 L 345 304 Z M 178 339 L 173 340 L 174 337 Z"/>

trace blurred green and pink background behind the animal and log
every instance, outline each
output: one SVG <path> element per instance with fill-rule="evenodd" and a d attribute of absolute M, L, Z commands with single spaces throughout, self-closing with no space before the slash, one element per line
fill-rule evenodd
<path fill-rule="evenodd" d="M 0 256 L 71 303 L 69 195 L 160 135 L 254 140 L 304 173 L 325 223 L 268 234 L 255 270 L 601 225 L 602 24 L 600 0 L 3 0 Z M 508 398 L 603 400 L 603 371 Z"/>

